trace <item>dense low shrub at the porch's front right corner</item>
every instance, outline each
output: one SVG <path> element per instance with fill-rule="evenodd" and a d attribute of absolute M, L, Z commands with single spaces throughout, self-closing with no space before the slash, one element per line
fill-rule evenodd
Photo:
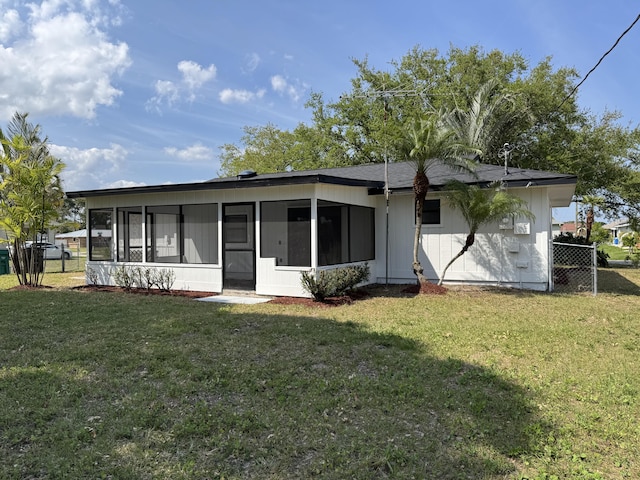
<path fill-rule="evenodd" d="M 313 296 L 314 300 L 321 302 L 328 297 L 344 295 L 359 283 L 369 279 L 369 265 L 351 265 L 348 267 L 322 270 L 318 274 L 314 272 L 302 272 L 302 288 Z"/>

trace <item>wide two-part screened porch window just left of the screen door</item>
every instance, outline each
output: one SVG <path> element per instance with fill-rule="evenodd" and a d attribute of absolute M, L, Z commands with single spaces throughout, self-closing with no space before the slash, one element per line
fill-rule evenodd
<path fill-rule="evenodd" d="M 147 262 L 218 263 L 218 205 L 147 207 Z"/>

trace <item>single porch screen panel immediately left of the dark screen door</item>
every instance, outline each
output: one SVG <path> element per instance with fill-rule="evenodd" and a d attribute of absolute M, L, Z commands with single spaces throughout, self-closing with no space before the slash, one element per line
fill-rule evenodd
<path fill-rule="evenodd" d="M 186 263 L 218 263 L 218 204 L 184 205 Z"/>

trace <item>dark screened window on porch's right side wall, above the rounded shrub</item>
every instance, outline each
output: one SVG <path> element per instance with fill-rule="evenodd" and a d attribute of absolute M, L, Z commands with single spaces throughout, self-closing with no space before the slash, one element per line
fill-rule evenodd
<path fill-rule="evenodd" d="M 374 209 L 318 201 L 318 265 L 375 258 Z"/>

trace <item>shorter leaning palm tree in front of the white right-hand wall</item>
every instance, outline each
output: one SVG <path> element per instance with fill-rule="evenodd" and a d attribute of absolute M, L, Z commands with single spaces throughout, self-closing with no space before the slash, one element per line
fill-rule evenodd
<path fill-rule="evenodd" d="M 449 267 L 465 254 L 475 243 L 476 233 L 481 226 L 502 220 L 505 217 L 526 217 L 535 220 L 535 216 L 526 208 L 527 203 L 501 188 L 500 182 L 488 187 L 467 185 L 459 181 L 447 184 L 447 201 L 459 210 L 469 226 L 469 234 L 462 249 L 454 256 L 442 271 L 438 285 L 442 285 Z"/>

